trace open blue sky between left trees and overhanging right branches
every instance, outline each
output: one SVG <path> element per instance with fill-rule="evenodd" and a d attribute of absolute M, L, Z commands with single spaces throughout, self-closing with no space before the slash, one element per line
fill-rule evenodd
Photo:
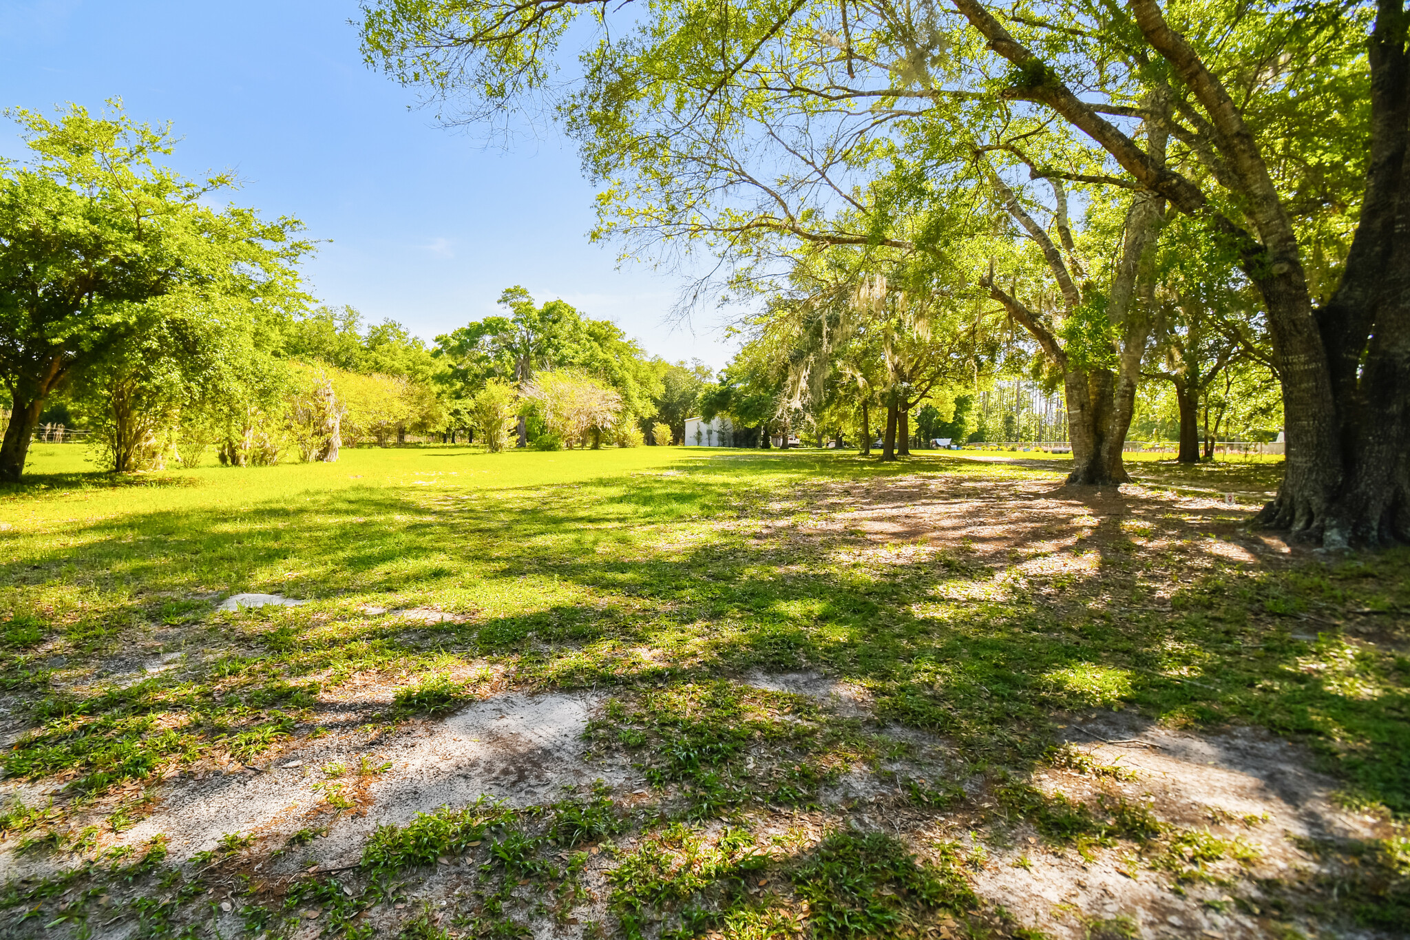
<path fill-rule="evenodd" d="M 233 168 L 240 203 L 331 240 L 306 268 L 310 290 L 371 321 L 430 341 L 519 283 L 615 320 L 649 352 L 725 364 L 712 323 L 663 323 L 678 275 L 616 269 L 615 247 L 588 244 L 594 192 L 570 144 L 486 148 L 407 110 L 415 93 L 362 65 L 357 14 L 350 0 L 0 0 L 0 97 L 99 110 L 120 96 L 134 118 L 173 121 L 176 168 Z M 10 128 L 0 152 L 23 154 Z"/>

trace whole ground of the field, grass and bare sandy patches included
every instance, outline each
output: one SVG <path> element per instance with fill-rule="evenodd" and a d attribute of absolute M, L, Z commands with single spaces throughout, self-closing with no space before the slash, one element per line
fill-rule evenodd
<path fill-rule="evenodd" d="M 38 445 L 0 936 L 1404 936 L 1410 554 L 1065 462 Z"/>

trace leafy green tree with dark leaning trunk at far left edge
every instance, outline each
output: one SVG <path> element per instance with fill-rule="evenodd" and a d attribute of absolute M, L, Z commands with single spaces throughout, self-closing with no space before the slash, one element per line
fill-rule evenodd
<path fill-rule="evenodd" d="M 293 265 L 310 244 L 292 237 L 296 220 L 212 209 L 235 179 L 193 182 L 159 165 L 169 130 L 120 107 L 10 116 L 32 154 L 0 168 L 0 382 L 11 404 L 0 481 L 17 482 L 49 395 L 165 310 L 231 326 L 299 300 Z"/>

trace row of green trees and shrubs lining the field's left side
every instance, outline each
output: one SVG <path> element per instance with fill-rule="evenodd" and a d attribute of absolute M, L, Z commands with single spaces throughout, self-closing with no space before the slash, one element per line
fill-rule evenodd
<path fill-rule="evenodd" d="M 0 166 L 0 479 L 35 430 L 82 426 L 113 472 L 336 461 L 344 447 L 477 437 L 491 450 L 680 443 L 705 366 L 522 287 L 427 345 L 319 306 L 296 218 L 213 207 L 237 180 L 162 163 L 169 127 L 120 103 L 11 110 L 31 158 Z"/>

